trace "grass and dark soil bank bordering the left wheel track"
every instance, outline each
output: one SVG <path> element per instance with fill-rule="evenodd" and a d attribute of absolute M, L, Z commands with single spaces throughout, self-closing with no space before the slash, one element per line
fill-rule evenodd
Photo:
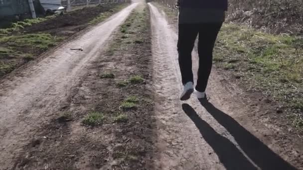
<path fill-rule="evenodd" d="M 64 15 L 19 21 L 0 29 L 0 77 L 125 6 L 126 3 L 85 7 Z"/>

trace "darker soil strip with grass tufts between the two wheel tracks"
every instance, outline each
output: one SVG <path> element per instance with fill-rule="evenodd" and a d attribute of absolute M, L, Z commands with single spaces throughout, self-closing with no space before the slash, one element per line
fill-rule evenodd
<path fill-rule="evenodd" d="M 148 11 L 146 11 L 147 13 Z M 146 15 L 149 18 L 148 15 Z M 123 33 L 117 32 L 109 48 L 117 48 L 114 54 L 102 52 L 90 62 L 88 72 L 79 85 L 72 87 L 69 103 L 58 112 L 70 112 L 72 120 L 56 114 L 48 124 L 38 131 L 34 139 L 16 159 L 15 169 L 152 169 L 152 126 L 153 104 L 151 85 L 151 42 L 150 25 L 137 22 L 138 15 L 132 14 L 129 31 L 140 32 L 131 35 L 124 42 Z M 127 21 L 128 21 L 127 20 Z M 143 24 L 142 28 L 137 24 Z M 146 25 L 146 26 L 144 26 Z M 147 28 L 147 29 L 146 29 Z M 126 44 L 128 40 L 141 37 L 143 44 Z M 103 73 L 112 72 L 114 79 L 101 79 Z M 143 75 L 143 84 L 118 87 L 117 83 L 134 75 Z M 111 86 L 111 88 L 104 88 Z M 119 108 L 128 96 L 138 96 L 135 109 L 125 112 L 126 121 L 117 122 L 114 117 L 123 112 Z M 104 113 L 102 125 L 91 127 L 82 124 L 83 117 L 90 111 Z M 41 161 L 43 160 L 43 161 Z M 63 160 L 63 161 L 62 161 Z"/>

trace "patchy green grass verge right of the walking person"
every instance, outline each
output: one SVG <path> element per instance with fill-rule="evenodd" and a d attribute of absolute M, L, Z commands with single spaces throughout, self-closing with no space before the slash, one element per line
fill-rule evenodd
<path fill-rule="evenodd" d="M 224 24 L 214 50 L 217 67 L 241 72 L 241 80 L 292 109 L 300 127 L 303 109 L 303 38 Z M 242 79 L 243 78 L 243 79 Z M 298 113 L 298 114 L 297 114 Z M 300 113 L 300 114 L 299 114 Z M 302 127 L 300 127 L 302 128 Z"/>

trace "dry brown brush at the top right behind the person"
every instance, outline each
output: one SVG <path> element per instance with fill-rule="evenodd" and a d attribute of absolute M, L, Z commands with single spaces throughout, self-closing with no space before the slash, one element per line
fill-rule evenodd
<path fill-rule="evenodd" d="M 175 9 L 176 0 L 153 0 Z M 302 0 L 228 0 L 227 21 L 271 33 L 303 34 Z"/>

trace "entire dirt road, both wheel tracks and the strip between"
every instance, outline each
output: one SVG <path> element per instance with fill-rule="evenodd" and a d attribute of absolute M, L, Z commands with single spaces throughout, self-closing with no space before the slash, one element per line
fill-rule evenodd
<path fill-rule="evenodd" d="M 133 3 L 0 82 L 0 169 L 302 169 L 302 142 L 259 117 L 268 105 L 224 71 L 213 70 L 208 101 L 179 100 L 174 25 L 144 6 Z M 193 70 L 197 60 L 194 51 Z M 128 81 L 134 76 L 143 81 Z M 138 101 L 123 109 L 130 96 Z M 83 124 L 91 112 L 103 122 Z"/>

